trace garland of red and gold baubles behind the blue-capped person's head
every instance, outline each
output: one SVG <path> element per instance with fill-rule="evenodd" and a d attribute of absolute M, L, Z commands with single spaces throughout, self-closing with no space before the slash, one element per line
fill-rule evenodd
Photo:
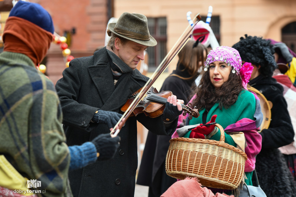
<path fill-rule="evenodd" d="M 70 49 L 68 49 L 68 45 L 66 43 L 67 38 L 65 36 L 59 36 L 56 33 L 54 33 L 54 39 L 53 43 L 59 44 L 61 50 L 62 50 L 62 55 L 64 56 L 64 61 L 66 62 L 66 68 L 69 67 L 69 63 L 74 57 L 71 54 Z M 40 64 L 38 66 L 38 70 L 42 72 L 43 74 L 46 72 L 46 66 L 44 64 Z"/>

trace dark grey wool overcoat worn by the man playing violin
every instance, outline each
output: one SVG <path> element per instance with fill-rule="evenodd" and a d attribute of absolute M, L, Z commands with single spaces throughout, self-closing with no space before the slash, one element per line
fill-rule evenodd
<path fill-rule="evenodd" d="M 122 77 L 122 78 L 121 78 Z M 61 101 L 63 124 L 68 146 L 81 145 L 101 133 L 110 133 L 107 125 L 90 122 L 98 109 L 123 114 L 121 106 L 128 96 L 142 88 L 148 77 L 138 70 L 124 73 L 114 87 L 106 47 L 93 56 L 73 59 L 56 84 Z M 165 127 L 161 116 L 146 117 L 143 113 L 130 117 L 118 134 L 120 147 L 113 159 L 96 161 L 69 172 L 74 196 L 133 196 L 137 159 L 136 120 L 158 135 L 170 135 L 177 120 Z"/>

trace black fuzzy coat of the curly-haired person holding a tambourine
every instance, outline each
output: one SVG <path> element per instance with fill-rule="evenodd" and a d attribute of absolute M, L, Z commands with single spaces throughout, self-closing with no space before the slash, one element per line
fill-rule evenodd
<path fill-rule="evenodd" d="M 283 87 L 272 77 L 259 75 L 249 83 L 271 101 L 271 122 L 262 130 L 262 149 L 256 157 L 260 187 L 267 196 L 296 196 L 295 182 L 279 147 L 292 143 L 294 131 Z M 253 182 L 254 183 L 254 182 Z"/>

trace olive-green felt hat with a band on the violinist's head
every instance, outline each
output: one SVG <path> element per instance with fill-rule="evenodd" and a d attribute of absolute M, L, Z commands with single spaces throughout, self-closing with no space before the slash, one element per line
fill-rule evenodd
<path fill-rule="evenodd" d="M 142 44 L 155 46 L 156 40 L 149 34 L 147 17 L 143 14 L 124 12 L 116 23 L 109 23 L 108 29 L 116 35 Z"/>

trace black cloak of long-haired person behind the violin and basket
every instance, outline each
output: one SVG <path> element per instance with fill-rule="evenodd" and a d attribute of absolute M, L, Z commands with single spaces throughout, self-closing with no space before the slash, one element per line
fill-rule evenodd
<path fill-rule="evenodd" d="M 195 77 L 184 80 L 176 75 L 183 78 L 191 76 L 187 70 L 184 70 L 182 64 L 178 64 L 176 70 L 173 70 L 165 79 L 160 91 L 171 91 L 173 95 L 177 96 L 177 99 L 182 99 L 187 104 L 190 100 L 190 88 Z M 155 135 L 151 131 L 148 132 L 137 184 L 149 186 L 149 197 L 160 196 L 176 182 L 175 178 L 168 176 L 165 172 L 165 158 L 170 139 L 171 135 Z"/>

